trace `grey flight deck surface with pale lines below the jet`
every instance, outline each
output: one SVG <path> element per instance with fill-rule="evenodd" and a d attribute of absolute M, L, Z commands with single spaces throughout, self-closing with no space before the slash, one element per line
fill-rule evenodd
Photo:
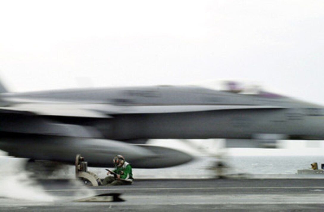
<path fill-rule="evenodd" d="M 125 186 L 85 186 L 39 180 L 51 201 L 0 198 L 0 211 L 323 211 L 324 179 L 136 180 Z M 124 202 L 75 202 L 119 193 Z"/>

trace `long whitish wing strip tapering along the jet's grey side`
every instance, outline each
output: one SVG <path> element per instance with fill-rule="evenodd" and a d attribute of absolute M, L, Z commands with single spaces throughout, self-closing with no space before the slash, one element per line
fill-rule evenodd
<path fill-rule="evenodd" d="M 96 103 L 55 103 L 34 102 L 19 103 L 0 107 L 0 113 L 29 112 L 42 116 L 67 116 L 112 118 L 116 114 L 158 114 L 158 113 L 187 113 L 214 110 L 242 110 L 242 109 L 280 109 L 280 106 L 262 105 L 140 105 L 125 106 Z M 2 112 L 1 112 L 2 111 Z"/>

